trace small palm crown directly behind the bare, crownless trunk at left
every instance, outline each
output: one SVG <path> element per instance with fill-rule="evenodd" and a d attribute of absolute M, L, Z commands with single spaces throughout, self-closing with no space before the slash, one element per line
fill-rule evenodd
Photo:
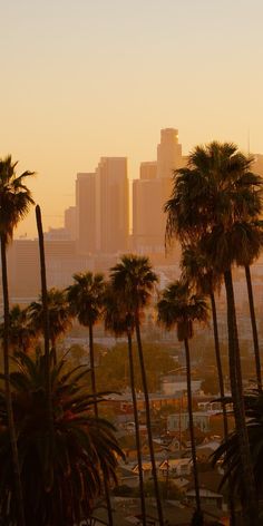
<path fill-rule="evenodd" d="M 47 291 L 48 316 L 49 316 L 49 337 L 51 342 L 51 352 L 55 363 L 57 362 L 57 341 L 71 328 L 71 314 L 65 291 L 52 288 Z M 30 303 L 28 315 L 32 329 L 38 334 L 43 334 L 43 304 L 42 296 L 39 301 Z"/>

